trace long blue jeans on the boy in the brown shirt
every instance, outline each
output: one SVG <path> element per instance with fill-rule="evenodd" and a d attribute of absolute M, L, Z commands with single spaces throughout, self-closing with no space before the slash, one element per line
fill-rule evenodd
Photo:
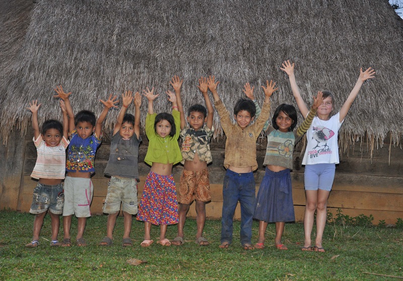
<path fill-rule="evenodd" d="M 221 243 L 232 243 L 232 222 L 238 201 L 241 204 L 241 245 L 251 244 L 255 179 L 252 172 L 236 173 L 227 169 L 223 185 Z"/>

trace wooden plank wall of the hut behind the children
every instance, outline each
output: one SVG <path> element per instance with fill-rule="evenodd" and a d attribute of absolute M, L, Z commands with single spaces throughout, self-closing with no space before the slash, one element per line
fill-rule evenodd
<path fill-rule="evenodd" d="M 142 195 L 145 179 L 150 167 L 144 163 L 144 157 L 147 152 L 147 138 L 142 136 L 144 143 L 140 146 L 139 157 L 139 200 Z M 9 198 L 11 209 L 18 209 L 22 212 L 28 212 L 32 200 L 32 191 L 37 181 L 31 179 L 30 174 L 36 160 L 36 149 L 32 142 L 32 136 L 25 138 L 25 157 L 22 167 L 21 193 L 19 201 L 16 202 L 15 196 L 17 189 L 7 189 L 5 195 Z M 364 150 L 365 148 L 365 143 Z M 222 184 L 225 175 L 223 168 L 224 162 L 224 141 L 218 139 L 212 143 L 213 163 L 209 165 L 212 201 L 207 204 L 206 212 L 210 219 L 220 219 L 222 210 Z M 258 144 L 257 161 L 259 167 L 262 167 L 266 142 L 264 139 Z M 97 151 L 95 167 L 97 172 L 92 178 L 94 184 L 94 197 L 91 205 L 93 214 L 102 214 L 103 200 L 107 192 L 108 178 L 103 175 L 106 163 L 109 157 L 110 145 L 108 140 Z M 343 210 L 343 214 L 349 216 L 374 216 L 374 224 L 379 220 L 385 220 L 386 223 L 395 223 L 397 218 L 403 218 L 403 152 L 400 148 L 391 150 L 391 162 L 388 163 L 388 148 L 382 148 L 374 152 L 373 160 L 368 158 L 367 153 L 360 152 L 357 147 L 350 149 L 341 157 L 340 165 L 336 168 L 336 175 L 333 189 L 330 193 L 328 207 L 335 215 L 338 208 Z M 302 156 L 299 151 L 294 154 L 294 171 L 291 173 L 293 181 L 293 199 L 295 205 L 295 215 L 297 221 L 302 221 L 305 208 L 305 194 L 303 183 L 304 168 L 301 166 Z M 11 161 L 17 165 L 18 161 Z M 20 161 L 21 162 L 21 161 Z M 177 165 L 173 169 L 175 182 L 179 183 L 182 166 Z M 255 172 L 256 192 L 259 188 L 264 170 L 259 168 Z M 18 178 L 18 176 L 17 176 Z M 16 181 L 18 183 L 18 181 Z M 17 184 L 16 183 L 16 184 Z M 4 192 L 3 192 L 4 194 Z M 12 195 L 14 197 L 12 198 Z M 13 200 L 12 200 L 13 199 Z M 3 207 L 2 207 L 3 208 Z M 192 204 L 188 216 L 195 217 L 194 204 Z M 235 211 L 235 218 L 240 218 L 240 208 Z"/>

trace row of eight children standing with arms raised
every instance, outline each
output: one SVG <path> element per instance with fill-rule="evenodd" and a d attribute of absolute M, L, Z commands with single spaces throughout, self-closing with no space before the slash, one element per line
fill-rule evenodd
<path fill-rule="evenodd" d="M 270 97 L 278 89 L 276 83 L 266 81 L 261 86 L 264 102 L 260 109 L 253 95 L 254 87 L 244 85 L 243 92 L 247 99 L 240 99 L 234 107 L 234 120 L 221 101 L 217 87 L 220 83 L 214 76 L 200 77 L 198 89 L 203 94 L 206 107 L 193 105 L 185 118 L 181 86 L 183 80 L 174 76 L 170 81 L 174 92 L 167 90 L 168 101 L 172 104 L 172 114 L 154 113 L 153 102 L 159 96 L 152 89 L 143 90 L 148 100 L 146 118 L 146 135 L 149 140 L 145 162 L 151 166 L 147 176 L 142 199 L 138 206 L 137 184 L 139 181 L 138 155 L 140 137 L 139 92 L 132 96 L 131 91 L 122 95 L 122 108 L 117 116 L 111 136 L 110 156 L 105 174 L 111 176 L 103 212 L 109 214 L 107 219 L 107 235 L 99 243 L 108 246 L 113 242 L 113 229 L 116 217 L 122 206 L 124 216 L 124 234 L 122 246 L 132 245 L 130 231 L 132 216 L 144 221 L 145 236 L 141 246 L 148 247 L 151 239 L 151 226 L 160 226 L 158 243 L 164 246 L 182 245 L 184 243 L 184 224 L 190 204 L 195 201 L 197 233 L 195 241 L 198 245 L 209 245 L 203 236 L 206 222 L 206 203 L 211 200 L 209 171 L 207 165 L 212 162 L 210 140 L 214 133 L 214 109 L 209 93 L 213 95 L 215 108 L 220 116 L 221 126 L 226 135 L 224 167 L 226 174 L 223 183 L 223 210 L 220 248 L 228 248 L 232 243 L 233 216 L 240 203 L 241 230 L 240 242 L 245 250 L 264 248 L 265 231 L 268 223 L 275 223 L 275 246 L 287 250 L 282 243 L 285 222 L 295 220 L 292 200 L 290 170 L 293 168 L 294 145 L 307 132 L 307 148 L 303 158 L 305 165 L 306 208 L 304 216 L 305 241 L 302 250 L 323 252 L 322 234 L 326 222 L 326 203 L 334 179 L 335 164 L 339 163 L 338 131 L 353 103 L 363 82 L 373 78 L 375 71 L 368 68 L 360 70 L 360 76 L 347 101 L 337 114 L 332 113 L 334 98 L 331 92 L 318 91 L 313 97 L 313 104 L 308 110 L 301 98 L 295 75 L 294 63 L 285 61 L 280 68 L 286 72 L 294 98 L 296 99 L 304 122 L 297 129 L 297 111 L 291 105 L 280 105 L 271 122 Z M 27 247 L 39 245 L 39 233 L 46 211 L 51 217 L 51 246 L 71 246 L 70 227 L 73 214 L 78 218 L 76 244 L 85 246 L 83 238 L 86 218 L 91 216 L 90 204 L 93 194 L 91 175 L 94 170 L 94 156 L 101 143 L 102 123 L 108 110 L 117 107 L 117 97 L 109 96 L 102 101 L 104 110 L 98 120 L 89 111 L 81 111 L 76 116 L 70 104 L 71 92 L 65 93 L 61 86 L 55 89 L 60 99 L 63 124 L 55 120 L 47 120 L 38 125 L 38 109 L 40 104 L 32 101 L 29 110 L 32 112 L 34 143 L 38 158 L 32 177 L 39 182 L 34 190 L 31 213 L 36 214 L 32 242 Z M 126 110 L 134 100 L 135 116 Z M 255 119 L 254 123 L 252 121 Z M 187 121 L 187 122 L 186 122 Z M 67 125 L 68 124 L 68 125 Z M 187 125 L 188 124 L 188 125 Z M 69 126 L 69 127 L 68 127 Z M 257 169 L 256 140 L 261 131 L 267 136 L 267 149 L 263 165 L 265 174 L 255 197 L 255 181 L 253 171 Z M 67 139 L 69 134 L 69 140 Z M 181 138 L 181 147 L 178 138 Z M 65 161 L 65 149 L 68 159 Z M 183 164 L 180 177 L 178 198 L 172 167 L 176 163 Z M 65 171 L 67 176 L 64 179 Z M 64 190 L 61 181 L 64 179 Z M 179 203 L 179 204 L 178 204 Z M 64 205 L 64 206 L 63 206 Z M 311 232 L 316 211 L 316 239 L 311 244 Z M 59 215 L 63 214 L 64 239 L 57 240 Z M 259 236 L 253 245 L 252 220 L 259 221 Z M 177 236 L 173 240 L 166 238 L 167 226 L 177 224 Z"/>

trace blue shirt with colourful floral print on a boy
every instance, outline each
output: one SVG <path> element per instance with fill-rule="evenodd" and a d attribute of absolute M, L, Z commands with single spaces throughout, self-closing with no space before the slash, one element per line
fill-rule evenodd
<path fill-rule="evenodd" d="M 95 152 L 101 144 L 102 136 L 98 138 L 94 133 L 90 137 L 82 139 L 77 134 L 77 131 L 74 130 L 69 138 L 70 145 L 66 161 L 66 171 L 95 172 Z"/>

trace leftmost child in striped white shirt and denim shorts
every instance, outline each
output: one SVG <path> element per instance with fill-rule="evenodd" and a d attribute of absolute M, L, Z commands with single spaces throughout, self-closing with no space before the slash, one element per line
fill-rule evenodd
<path fill-rule="evenodd" d="M 32 129 L 34 131 L 34 144 L 37 151 L 37 159 L 31 177 L 39 179 L 34 189 L 31 209 L 29 212 L 35 214 L 34 234 L 32 241 L 25 245 L 28 248 L 35 248 L 39 245 L 39 234 L 42 228 L 46 212 L 49 210 L 50 224 L 52 228 L 52 240 L 50 246 L 60 246 L 57 240 L 60 226 L 60 215 L 63 212 L 64 195 L 63 185 L 64 165 L 66 160 L 65 150 L 69 145 L 68 116 L 64 103 L 60 101 L 60 108 L 63 113 L 63 125 L 57 120 L 46 120 L 39 130 L 38 110 L 41 104 L 38 101 L 29 103 L 32 112 Z"/>

